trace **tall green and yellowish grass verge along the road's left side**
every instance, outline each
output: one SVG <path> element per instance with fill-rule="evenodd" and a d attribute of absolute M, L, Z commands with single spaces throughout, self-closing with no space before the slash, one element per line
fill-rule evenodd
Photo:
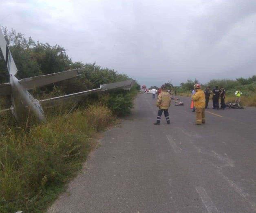
<path fill-rule="evenodd" d="M 68 116 L 49 117 L 46 124 L 29 129 L 3 122 L 0 212 L 43 212 L 81 169 L 93 148 L 93 134 L 104 130 L 113 119 L 103 104 Z"/>

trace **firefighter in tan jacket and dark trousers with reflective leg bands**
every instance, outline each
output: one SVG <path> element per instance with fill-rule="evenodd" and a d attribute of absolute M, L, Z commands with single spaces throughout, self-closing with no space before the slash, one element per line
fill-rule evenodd
<path fill-rule="evenodd" d="M 166 85 L 161 86 L 161 93 L 159 93 L 157 98 L 157 107 L 159 107 L 157 113 L 157 122 L 154 125 L 160 125 L 162 113 L 166 117 L 167 124 L 170 124 L 170 118 L 168 113 L 168 108 L 171 105 L 171 96 L 166 89 Z"/>

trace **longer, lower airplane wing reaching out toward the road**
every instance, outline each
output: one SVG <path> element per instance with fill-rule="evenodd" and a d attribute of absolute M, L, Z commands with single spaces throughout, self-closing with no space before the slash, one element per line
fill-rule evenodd
<path fill-rule="evenodd" d="M 73 94 L 69 94 L 69 95 L 65 95 L 65 96 L 59 96 L 59 97 L 55 97 L 55 98 L 40 100 L 40 104 L 44 108 L 50 108 L 50 107 L 54 107 L 56 105 L 63 104 L 66 101 L 78 102 L 84 96 L 87 96 L 92 93 L 109 91 L 109 90 L 114 90 L 114 89 L 130 89 L 133 84 L 134 84 L 134 80 L 125 80 L 125 81 L 121 81 L 121 82 L 117 82 L 117 83 L 104 84 L 104 85 L 100 85 L 100 88 L 97 88 L 97 89 L 91 89 L 91 90 L 73 93 Z"/>

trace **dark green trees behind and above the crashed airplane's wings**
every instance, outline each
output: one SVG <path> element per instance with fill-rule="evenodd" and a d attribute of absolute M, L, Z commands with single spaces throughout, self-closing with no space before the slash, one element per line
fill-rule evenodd
<path fill-rule="evenodd" d="M 62 93 L 73 93 L 98 88 L 102 84 L 130 79 L 126 74 L 119 74 L 113 69 L 102 68 L 96 65 L 96 62 L 93 64 L 72 62 L 66 54 L 66 49 L 60 45 L 51 46 L 49 43 L 40 43 L 39 41 L 35 43 L 31 37 L 27 39 L 24 34 L 17 33 L 13 29 L 9 31 L 7 28 L 2 28 L 2 31 L 18 68 L 18 78 L 84 67 L 82 76 L 79 78 L 55 83 L 55 87 L 53 85 L 41 87 L 35 91 L 35 95 L 36 93 L 50 93 L 56 87 Z M 8 76 L 5 62 L 2 54 L 0 54 L 0 81 L 6 82 Z"/>

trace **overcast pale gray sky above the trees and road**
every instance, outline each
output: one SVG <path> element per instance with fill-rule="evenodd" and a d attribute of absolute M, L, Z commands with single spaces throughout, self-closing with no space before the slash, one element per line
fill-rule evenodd
<path fill-rule="evenodd" d="M 0 0 L 0 24 L 140 84 L 256 74 L 256 0 Z"/>

